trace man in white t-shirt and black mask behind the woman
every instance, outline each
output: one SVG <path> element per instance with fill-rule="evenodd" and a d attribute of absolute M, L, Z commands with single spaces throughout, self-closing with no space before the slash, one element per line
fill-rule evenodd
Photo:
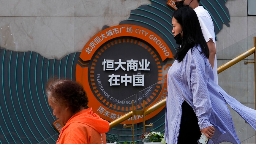
<path fill-rule="evenodd" d="M 175 4 L 177 8 L 189 5 L 189 7 L 192 7 L 192 9 L 195 10 L 203 32 L 203 36 L 209 48 L 209 62 L 213 68 L 214 82 L 218 84 L 214 25 L 211 19 L 211 15 L 207 10 L 203 8 L 203 6 L 199 6 L 199 1 L 200 0 L 176 0 Z"/>

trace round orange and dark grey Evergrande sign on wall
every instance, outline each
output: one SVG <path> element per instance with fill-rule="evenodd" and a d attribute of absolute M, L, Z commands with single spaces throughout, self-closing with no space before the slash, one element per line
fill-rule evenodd
<path fill-rule="evenodd" d="M 108 121 L 134 110 L 154 105 L 163 94 L 162 64 L 173 58 L 165 42 L 140 26 L 118 25 L 96 34 L 83 48 L 76 66 L 76 80 L 89 97 L 88 107 Z M 163 107 L 162 107 L 163 108 Z M 155 116 L 159 109 L 146 117 Z M 132 119 L 142 122 L 138 115 Z"/>

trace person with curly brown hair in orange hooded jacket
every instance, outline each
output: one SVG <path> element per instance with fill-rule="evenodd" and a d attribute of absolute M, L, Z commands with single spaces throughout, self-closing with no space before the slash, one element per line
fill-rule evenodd
<path fill-rule="evenodd" d="M 84 109 L 88 97 L 80 84 L 71 80 L 50 80 L 46 87 L 53 115 L 64 124 L 56 144 L 106 144 L 108 121 L 92 108 Z"/>

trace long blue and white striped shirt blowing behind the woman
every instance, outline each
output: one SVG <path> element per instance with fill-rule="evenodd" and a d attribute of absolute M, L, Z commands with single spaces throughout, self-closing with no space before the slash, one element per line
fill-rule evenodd
<path fill-rule="evenodd" d="M 165 140 L 176 144 L 181 124 L 181 105 L 186 101 L 194 110 L 200 129 L 214 126 L 208 144 L 224 141 L 240 144 L 236 135 L 230 105 L 256 130 L 256 110 L 242 105 L 214 83 L 211 65 L 200 46 L 190 49 L 183 61 L 175 60 L 167 74 Z"/>

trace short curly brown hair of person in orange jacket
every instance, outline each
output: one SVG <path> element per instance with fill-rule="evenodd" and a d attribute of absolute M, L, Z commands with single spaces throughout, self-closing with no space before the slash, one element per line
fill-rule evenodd
<path fill-rule="evenodd" d="M 48 99 L 59 105 L 69 106 L 73 113 L 86 107 L 88 97 L 83 86 L 77 82 L 67 79 L 51 79 L 46 86 Z"/>

